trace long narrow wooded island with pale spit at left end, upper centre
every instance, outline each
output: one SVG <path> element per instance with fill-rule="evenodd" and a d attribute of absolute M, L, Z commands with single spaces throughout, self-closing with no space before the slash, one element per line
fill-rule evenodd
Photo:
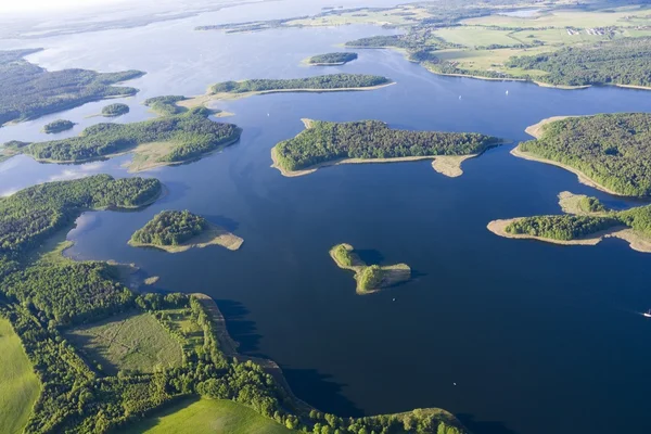
<path fill-rule="evenodd" d="M 375 90 L 394 85 L 391 79 L 367 74 L 330 74 L 307 78 L 251 79 L 222 81 L 208 88 L 206 94 L 179 101 L 187 108 L 204 106 L 214 100 L 237 100 L 240 98 L 278 92 L 347 92 Z"/>

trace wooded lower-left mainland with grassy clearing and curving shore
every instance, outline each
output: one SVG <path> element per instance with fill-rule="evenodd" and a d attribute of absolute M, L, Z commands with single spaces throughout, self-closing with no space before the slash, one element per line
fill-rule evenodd
<path fill-rule="evenodd" d="M 22 344 L 2 348 L 36 374 L 34 393 L 3 396 L 2 426 L 4 410 L 15 408 L 9 423 L 26 434 L 122 432 L 175 399 L 205 397 L 246 406 L 290 432 L 467 433 L 437 409 L 322 413 L 292 395 L 276 363 L 237 353 L 209 297 L 137 294 L 119 280 L 122 266 L 61 256 L 58 241 L 82 212 L 142 207 L 161 191 L 155 179 L 98 175 L 0 200 L 0 330 L 9 323 Z"/>

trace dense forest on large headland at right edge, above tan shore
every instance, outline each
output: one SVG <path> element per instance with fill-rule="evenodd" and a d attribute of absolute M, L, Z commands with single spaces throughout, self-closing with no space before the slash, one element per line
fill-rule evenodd
<path fill-rule="evenodd" d="M 651 195 L 651 114 L 570 117 L 520 150 L 562 163 L 623 195 Z"/>

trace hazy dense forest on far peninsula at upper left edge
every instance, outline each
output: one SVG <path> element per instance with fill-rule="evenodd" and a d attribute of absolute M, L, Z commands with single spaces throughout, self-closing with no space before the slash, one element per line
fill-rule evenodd
<path fill-rule="evenodd" d="M 138 90 L 113 85 L 144 73 L 100 74 L 86 69 L 49 72 L 22 59 L 38 50 L 0 51 L 0 126 L 12 120 L 73 108 L 90 101 L 131 95 Z"/>

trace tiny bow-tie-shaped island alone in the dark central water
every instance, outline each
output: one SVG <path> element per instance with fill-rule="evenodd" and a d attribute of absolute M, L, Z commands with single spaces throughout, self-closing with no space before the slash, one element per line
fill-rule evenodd
<path fill-rule="evenodd" d="M 411 268 L 407 264 L 392 266 L 366 265 L 350 244 L 337 244 L 330 250 L 330 256 L 337 267 L 355 271 L 357 294 L 365 295 L 411 279 Z"/>

